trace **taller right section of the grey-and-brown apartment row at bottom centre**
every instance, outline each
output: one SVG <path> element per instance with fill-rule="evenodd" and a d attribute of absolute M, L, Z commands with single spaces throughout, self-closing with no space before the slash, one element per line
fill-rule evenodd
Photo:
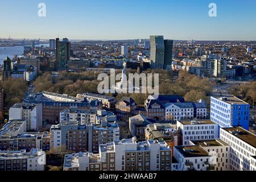
<path fill-rule="evenodd" d="M 113 144 L 102 145 L 100 155 L 106 156 L 106 153 L 114 153 L 115 171 L 171 170 L 172 150 L 166 142 L 122 139 Z"/>

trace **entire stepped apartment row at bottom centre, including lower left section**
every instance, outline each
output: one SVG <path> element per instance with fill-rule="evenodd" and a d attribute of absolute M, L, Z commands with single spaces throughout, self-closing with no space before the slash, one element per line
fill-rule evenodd
<path fill-rule="evenodd" d="M 66 155 L 64 171 L 169 171 L 171 161 L 171 149 L 164 142 L 123 139 L 101 145 L 100 154 Z"/>

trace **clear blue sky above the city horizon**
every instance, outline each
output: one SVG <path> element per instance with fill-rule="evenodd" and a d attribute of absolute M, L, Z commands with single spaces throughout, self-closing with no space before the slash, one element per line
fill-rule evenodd
<path fill-rule="evenodd" d="M 217 17 L 208 16 L 211 2 Z M 256 40 L 255 8 L 254 0 L 4 0 L 0 38 Z"/>

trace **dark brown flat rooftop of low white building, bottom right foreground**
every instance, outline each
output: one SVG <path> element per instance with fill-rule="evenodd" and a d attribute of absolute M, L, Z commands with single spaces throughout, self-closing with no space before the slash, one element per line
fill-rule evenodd
<path fill-rule="evenodd" d="M 175 148 L 183 155 L 185 158 L 195 158 L 210 156 L 207 151 L 205 151 L 200 146 L 175 146 Z"/>

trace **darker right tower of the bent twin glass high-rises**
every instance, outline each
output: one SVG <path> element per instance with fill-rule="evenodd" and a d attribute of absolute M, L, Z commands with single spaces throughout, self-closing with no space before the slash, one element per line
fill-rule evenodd
<path fill-rule="evenodd" d="M 173 40 L 164 40 L 164 69 L 171 70 Z"/>

